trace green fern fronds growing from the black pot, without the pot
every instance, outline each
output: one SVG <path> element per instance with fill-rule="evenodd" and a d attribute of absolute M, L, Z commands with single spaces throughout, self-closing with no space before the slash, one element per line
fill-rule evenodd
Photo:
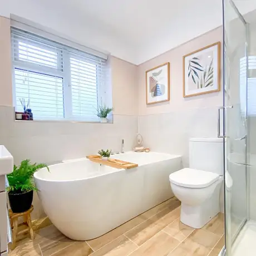
<path fill-rule="evenodd" d="M 6 190 L 37 191 L 38 189 L 36 188 L 33 181 L 33 174 L 41 168 L 47 168 L 49 171 L 49 168 L 46 164 L 31 164 L 29 159 L 21 161 L 21 165 L 19 167 L 14 165 L 13 172 L 7 174 L 9 186 Z"/>

